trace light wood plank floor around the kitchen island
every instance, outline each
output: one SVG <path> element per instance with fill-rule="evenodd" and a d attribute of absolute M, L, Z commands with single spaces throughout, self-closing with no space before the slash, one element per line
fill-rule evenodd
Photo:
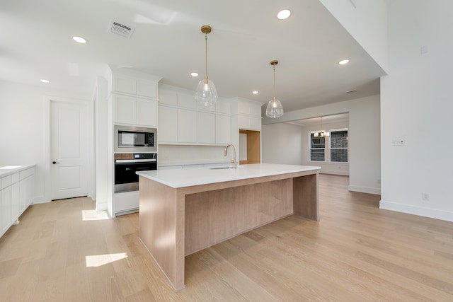
<path fill-rule="evenodd" d="M 186 257 L 178 293 L 137 214 L 84 221 L 90 199 L 34 205 L 0 239 L 0 301 L 453 301 L 453 223 L 379 210 L 345 176 L 319 188 L 319 222 L 290 216 Z"/>

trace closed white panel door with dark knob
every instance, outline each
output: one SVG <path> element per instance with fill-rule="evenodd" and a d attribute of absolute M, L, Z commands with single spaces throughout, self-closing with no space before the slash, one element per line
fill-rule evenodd
<path fill-rule="evenodd" d="M 51 198 L 87 195 L 86 105 L 50 103 Z"/>

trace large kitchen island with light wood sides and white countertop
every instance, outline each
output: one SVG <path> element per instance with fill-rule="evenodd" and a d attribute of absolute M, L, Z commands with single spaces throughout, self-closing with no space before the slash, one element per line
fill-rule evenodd
<path fill-rule="evenodd" d="M 139 238 L 173 289 L 184 257 L 289 215 L 318 220 L 318 170 L 257 163 L 137 172 Z"/>

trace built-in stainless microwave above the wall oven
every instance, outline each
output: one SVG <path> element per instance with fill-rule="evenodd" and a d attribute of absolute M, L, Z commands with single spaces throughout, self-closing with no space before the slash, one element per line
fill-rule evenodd
<path fill-rule="evenodd" d="M 115 125 L 115 152 L 156 152 L 157 129 Z"/>

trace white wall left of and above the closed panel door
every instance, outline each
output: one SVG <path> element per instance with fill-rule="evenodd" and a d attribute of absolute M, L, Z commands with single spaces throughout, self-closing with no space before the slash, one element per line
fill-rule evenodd
<path fill-rule="evenodd" d="M 46 95 L 91 99 L 88 95 L 0 81 L 0 165 L 36 164 L 34 202 L 50 201 L 46 189 L 50 186 Z"/>

